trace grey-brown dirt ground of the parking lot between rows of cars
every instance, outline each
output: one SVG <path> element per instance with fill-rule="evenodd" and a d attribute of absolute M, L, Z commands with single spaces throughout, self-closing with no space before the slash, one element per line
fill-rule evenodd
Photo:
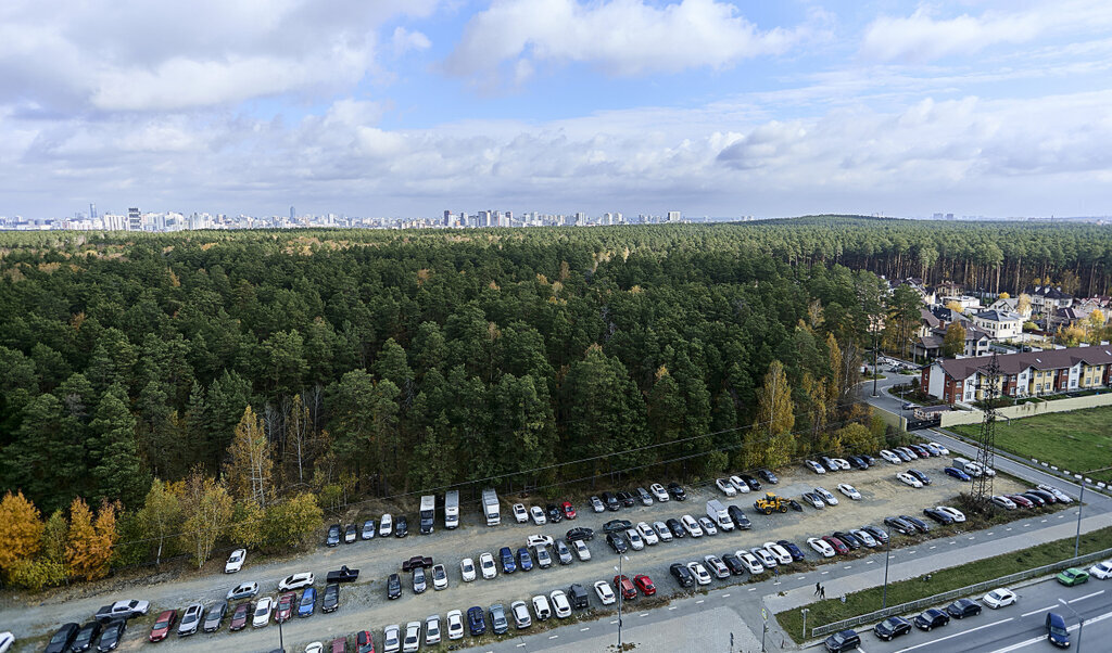
<path fill-rule="evenodd" d="M 752 530 L 722 533 L 716 536 L 701 539 L 685 538 L 668 543 L 662 542 L 655 546 L 646 546 L 644 551 L 631 551 L 628 562 L 623 562 L 623 573 L 629 575 L 647 573 L 656 582 L 658 591 L 668 595 L 678 593 L 679 587 L 668 574 L 668 565 L 673 562 L 702 561 L 706 554 L 723 555 L 739 549 L 758 546 L 767 541 L 791 540 L 807 554 L 806 563 L 818 562 L 817 555 L 806 545 L 807 538 L 830 534 L 835 530 L 848 530 L 864 524 L 881 525 L 885 516 L 893 514 L 921 515 L 927 506 L 953 503 L 957 493 L 969 486 L 942 473 L 949 459 L 936 458 L 920 461 L 916 469 L 925 472 L 933 484 L 923 489 L 912 489 L 900 483 L 895 474 L 906 469 L 884 461 L 865 471 L 845 471 L 825 475 L 816 475 L 803 468 L 794 466 L 783 470 L 781 483 L 771 486 L 777 494 L 798 499 L 803 492 L 811 491 L 815 485 L 822 485 L 840 499 L 840 504 L 824 510 L 804 506 L 803 512 L 788 511 L 785 514 L 765 516 L 753 510 L 754 499 L 759 493 L 738 495 L 727 500 L 714 485 L 688 489 L 689 499 L 686 502 L 672 501 L 652 506 L 624 509 L 617 513 L 606 512 L 595 514 L 587 505 L 577 505 L 579 518 L 575 521 L 564 521 L 559 524 L 534 526 L 507 522 L 513 518 L 503 514 L 503 524 L 497 528 L 478 525 L 479 516 L 467 513 L 464 525 L 456 531 L 438 529 L 428 536 L 409 535 L 406 539 L 375 539 L 368 542 L 357 542 L 350 545 L 341 544 L 335 549 L 319 549 L 297 559 L 295 562 L 275 562 L 265 565 L 252 565 L 251 560 L 244 571 L 235 575 L 212 575 L 183 582 L 158 583 L 149 586 L 135 586 L 128 592 L 128 597 L 148 599 L 152 603 L 151 612 L 166 607 L 181 609 L 193 601 L 206 604 L 222 599 L 227 590 L 246 581 L 258 581 L 262 593 L 276 594 L 277 581 L 286 574 L 298 571 L 312 571 L 317 574 L 318 589 L 324 585 L 325 573 L 337 569 L 340 564 L 361 570 L 358 583 L 342 587 L 342 604 L 332 614 L 316 614 L 310 619 L 294 619 L 282 627 L 282 635 L 288 651 L 304 650 L 311 641 L 327 642 L 329 639 L 350 634 L 356 631 L 371 630 L 376 645 L 380 646 L 383 627 L 388 624 L 405 625 L 408 621 L 424 621 L 430 614 L 441 617 L 449 610 L 466 610 L 473 605 L 488 607 L 493 603 L 508 604 L 515 600 L 528 601 L 538 593 L 548 593 L 555 589 L 564 589 L 572 583 L 582 583 L 586 587 L 597 580 L 612 579 L 617 556 L 606 546 L 600 533 L 603 523 L 610 519 L 627 519 L 634 524 L 639 521 L 664 521 L 668 518 L 679 518 L 683 514 L 701 516 L 705 514 L 708 499 L 718 499 L 725 504 L 736 504 L 745 510 L 753 522 Z M 837 492 L 837 483 L 854 485 L 862 494 L 861 501 L 851 501 Z M 1012 492 L 1022 489 L 1017 482 L 1010 479 L 996 479 L 996 492 Z M 467 508 L 467 506 L 465 506 Z M 562 566 L 554 564 L 547 570 L 534 569 L 530 572 L 499 574 L 497 579 L 484 581 L 481 577 L 471 583 L 464 583 L 459 575 L 459 561 L 463 557 L 478 560 L 483 552 L 497 556 L 502 546 L 523 546 L 525 538 L 533 533 L 544 533 L 553 538 L 562 538 L 572 526 L 588 526 L 596 530 L 596 538 L 589 543 L 592 560 L 573 562 Z M 893 540 L 900 543 L 901 538 Z M 423 554 L 434 557 L 448 567 L 449 587 L 434 591 L 431 587 L 420 595 L 415 595 L 409 585 L 409 575 L 401 574 L 403 595 L 396 601 L 386 599 L 386 577 L 391 572 L 400 573 L 400 563 L 410 555 Z M 802 563 L 801 563 L 802 564 Z M 796 565 L 798 566 L 798 565 Z M 726 582 L 743 582 L 743 576 L 734 576 L 728 581 L 715 581 L 715 585 Z M 48 601 L 41 606 L 12 607 L 4 610 L 6 621 L 16 622 L 17 627 L 24 626 L 32 632 L 42 634 L 66 621 L 87 620 L 96 609 L 109 601 L 123 596 L 98 596 L 70 601 L 66 603 Z M 592 596 L 592 607 L 598 609 L 599 603 Z M 10 619 L 9 619 L 10 617 Z M 146 636 L 152 615 L 138 620 L 129 629 L 121 645 L 122 650 L 137 649 L 147 644 Z M 468 640 L 464 640 L 467 642 Z M 170 639 L 157 644 L 160 649 L 181 649 L 183 646 L 203 645 L 211 651 L 266 651 L 278 646 L 278 629 L 271 625 L 258 630 L 245 630 L 238 633 L 225 627 L 212 634 L 197 634 L 185 640 Z"/>

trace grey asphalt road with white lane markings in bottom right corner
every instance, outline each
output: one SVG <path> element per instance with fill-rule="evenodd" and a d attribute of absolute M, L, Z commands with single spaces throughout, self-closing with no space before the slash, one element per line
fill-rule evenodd
<path fill-rule="evenodd" d="M 1110 650 L 1108 642 L 1112 641 L 1109 639 L 1112 636 L 1112 582 L 1092 580 L 1076 587 L 1066 587 L 1048 580 L 1015 591 L 1020 596 L 1015 605 L 1000 610 L 985 609 L 980 615 L 951 620 L 949 625 L 929 633 L 912 629 L 911 633 L 893 642 L 882 642 L 871 630 L 858 631 L 862 635 L 862 650 L 870 653 L 1045 651 L 1052 649 L 1045 634 L 1048 612 L 1056 612 L 1065 617 L 1073 650 L 1079 647 L 1079 619 L 1085 621 L 1080 642 L 1082 650 Z M 1060 599 L 1066 601 L 1069 607 L 1063 606 Z"/>

